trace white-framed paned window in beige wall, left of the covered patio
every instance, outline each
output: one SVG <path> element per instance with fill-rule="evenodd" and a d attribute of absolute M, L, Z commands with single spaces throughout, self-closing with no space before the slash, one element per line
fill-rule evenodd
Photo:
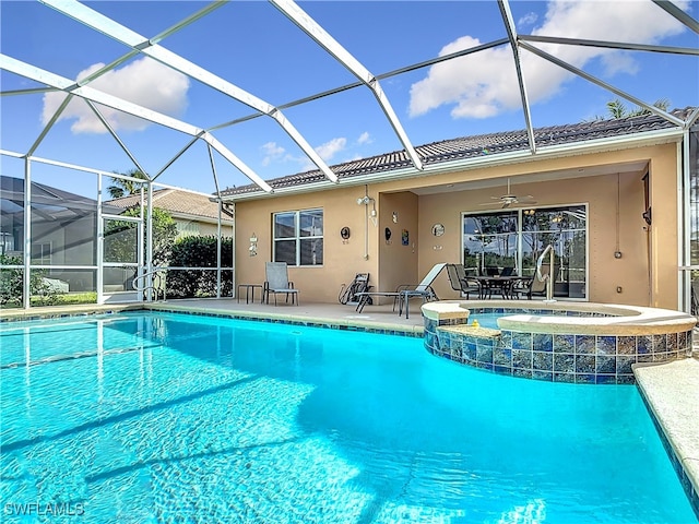
<path fill-rule="evenodd" d="M 289 211 L 274 214 L 274 262 L 288 265 L 322 265 L 323 211 Z"/>

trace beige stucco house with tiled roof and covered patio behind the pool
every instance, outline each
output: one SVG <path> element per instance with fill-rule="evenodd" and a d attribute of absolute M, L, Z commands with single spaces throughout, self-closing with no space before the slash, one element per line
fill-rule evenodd
<path fill-rule="evenodd" d="M 227 189 L 236 281 L 261 283 L 265 260 L 285 261 L 306 301 L 332 302 L 356 273 L 380 290 L 438 262 L 532 274 L 552 243 L 558 297 L 675 309 L 683 155 L 696 183 L 697 129 L 685 141 L 655 115 L 556 126 L 534 130 L 535 152 L 525 130 L 491 133 L 417 146 L 423 170 L 396 151 L 333 166 L 340 183 L 312 170 L 268 180 L 271 193 Z M 257 257 L 241 249 L 250 237 Z M 455 298 L 446 277 L 435 286 Z"/>

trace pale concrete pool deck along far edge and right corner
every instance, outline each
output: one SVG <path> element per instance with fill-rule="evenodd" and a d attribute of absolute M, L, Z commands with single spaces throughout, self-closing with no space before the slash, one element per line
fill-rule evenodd
<path fill-rule="evenodd" d="M 105 306 L 66 306 L 2 310 L 0 320 L 63 317 L 97 311 L 134 309 L 182 311 L 190 313 L 232 314 L 239 318 L 269 318 L 280 321 L 301 321 L 332 326 L 347 325 L 369 330 L 404 332 L 422 336 L 423 317 L 417 303 L 410 319 L 400 317 L 391 305 L 367 306 L 362 313 L 351 305 L 301 303 L 279 306 L 245 303 L 236 299 L 188 299 Z M 653 413 L 670 450 L 671 460 L 679 467 L 679 476 L 699 516 L 699 334 L 695 330 L 694 357 L 659 365 L 636 365 L 633 372 L 649 409 Z M 601 388 L 605 388 L 602 385 Z"/>

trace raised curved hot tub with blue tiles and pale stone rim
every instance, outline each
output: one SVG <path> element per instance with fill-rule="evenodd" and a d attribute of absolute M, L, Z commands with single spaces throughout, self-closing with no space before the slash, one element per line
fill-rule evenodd
<path fill-rule="evenodd" d="M 499 313 L 498 329 L 470 317 Z M 431 354 L 496 373 L 554 382 L 633 383 L 631 366 L 691 355 L 695 317 L 590 302 L 443 300 L 423 306 Z"/>

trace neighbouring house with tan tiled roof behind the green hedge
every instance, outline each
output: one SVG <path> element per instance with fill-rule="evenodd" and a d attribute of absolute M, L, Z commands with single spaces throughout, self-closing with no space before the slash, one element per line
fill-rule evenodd
<path fill-rule="evenodd" d="M 141 205 L 141 194 L 131 194 L 107 201 L 111 206 L 126 210 Z M 178 238 L 191 235 L 216 235 L 218 204 L 209 196 L 190 193 L 180 189 L 157 189 L 153 191 L 153 207 L 170 214 L 177 224 Z M 233 235 L 233 217 L 226 210 L 221 214 L 223 236 Z"/>

